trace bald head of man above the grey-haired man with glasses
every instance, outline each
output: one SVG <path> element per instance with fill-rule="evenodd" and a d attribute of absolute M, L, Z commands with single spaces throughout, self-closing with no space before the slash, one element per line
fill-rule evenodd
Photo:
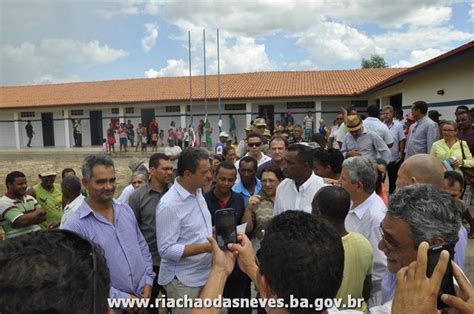
<path fill-rule="evenodd" d="M 430 154 L 416 154 L 403 162 L 398 170 L 397 188 L 427 183 L 441 188 L 446 169 L 439 159 Z"/>

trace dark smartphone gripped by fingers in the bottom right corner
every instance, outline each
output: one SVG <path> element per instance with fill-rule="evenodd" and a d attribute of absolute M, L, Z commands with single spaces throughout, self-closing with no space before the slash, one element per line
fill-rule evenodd
<path fill-rule="evenodd" d="M 446 250 L 449 252 L 449 263 L 446 267 L 446 272 L 444 273 L 443 280 L 441 281 L 441 286 L 438 291 L 438 310 L 448 307 L 443 301 L 441 301 L 441 295 L 443 293 L 456 295 L 454 291 L 454 282 L 453 282 L 453 267 L 451 265 L 451 260 L 454 257 L 454 245 L 452 244 L 438 244 L 432 245 L 428 249 L 428 265 L 426 268 L 426 276 L 431 277 L 433 271 L 438 264 L 439 256 L 441 251 Z"/>

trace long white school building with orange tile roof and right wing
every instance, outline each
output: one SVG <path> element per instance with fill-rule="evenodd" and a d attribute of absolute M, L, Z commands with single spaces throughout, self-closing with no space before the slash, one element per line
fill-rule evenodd
<path fill-rule="evenodd" d="M 474 106 L 474 42 L 411 68 L 227 74 L 220 81 L 220 110 L 215 75 L 207 77 L 207 110 L 202 76 L 192 78 L 192 110 L 188 77 L 0 87 L 0 148 L 25 147 L 28 120 L 35 131 L 33 147 L 69 148 L 71 119 L 82 120 L 84 146 L 101 145 L 111 121 L 131 120 L 136 127 L 156 117 L 166 134 L 173 120 L 183 127 L 192 120 L 196 129 L 206 113 L 213 142 L 219 115 L 227 131 L 229 114 L 239 138 L 263 113 L 276 121 L 290 111 L 302 123 L 312 111 L 316 121 L 331 125 L 340 107 L 350 105 L 361 112 L 374 103 L 408 109 L 424 100 L 453 119 L 456 106 Z"/>

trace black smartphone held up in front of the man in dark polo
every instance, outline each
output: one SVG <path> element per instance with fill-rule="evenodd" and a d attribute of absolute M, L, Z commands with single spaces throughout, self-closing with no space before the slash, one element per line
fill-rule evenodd
<path fill-rule="evenodd" d="M 235 222 L 235 210 L 224 208 L 214 213 L 216 222 L 217 244 L 221 250 L 227 250 L 227 244 L 237 243 L 237 225 Z"/>

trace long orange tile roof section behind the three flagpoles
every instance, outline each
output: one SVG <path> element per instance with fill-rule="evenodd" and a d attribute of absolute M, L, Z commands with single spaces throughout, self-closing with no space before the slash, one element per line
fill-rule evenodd
<path fill-rule="evenodd" d="M 222 100 L 358 96 L 405 68 L 257 72 L 221 75 Z M 204 99 L 203 76 L 193 77 L 193 100 Z M 217 100 L 217 75 L 207 76 L 208 100 Z M 164 77 L 0 87 L 0 108 L 31 108 L 189 100 L 188 77 Z"/>

